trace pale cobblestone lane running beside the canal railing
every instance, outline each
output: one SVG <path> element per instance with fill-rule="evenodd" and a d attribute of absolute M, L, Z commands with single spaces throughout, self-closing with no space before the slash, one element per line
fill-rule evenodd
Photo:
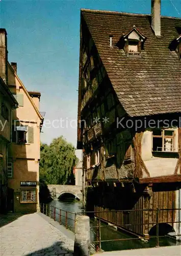
<path fill-rule="evenodd" d="M 1 256 L 73 255 L 73 240 L 37 213 L 4 225 L 0 233 Z"/>

